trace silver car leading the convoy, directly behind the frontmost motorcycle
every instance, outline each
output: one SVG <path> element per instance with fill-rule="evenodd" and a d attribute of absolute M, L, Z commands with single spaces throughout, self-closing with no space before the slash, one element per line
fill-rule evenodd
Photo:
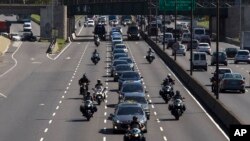
<path fill-rule="evenodd" d="M 147 116 L 142 105 L 139 103 L 120 103 L 116 106 L 114 114 L 110 114 L 113 121 L 113 132 L 126 131 L 132 122 L 133 116 L 145 127 L 143 132 L 147 132 Z"/>

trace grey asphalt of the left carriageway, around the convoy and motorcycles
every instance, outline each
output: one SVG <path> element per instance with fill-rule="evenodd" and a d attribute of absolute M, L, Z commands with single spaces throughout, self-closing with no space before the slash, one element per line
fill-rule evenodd
<path fill-rule="evenodd" d="M 82 27 L 77 33 L 92 35 L 92 31 L 92 27 Z M 126 33 L 126 28 L 123 31 Z M 163 78 L 172 72 L 158 57 L 152 64 L 147 63 L 144 56 L 149 46 L 144 41 L 125 44 L 136 63 L 136 71 L 143 76 L 151 102 L 151 119 L 145 134 L 148 141 L 228 140 L 177 78 L 175 90 L 185 97 L 187 110 L 179 121 L 174 120 L 158 93 Z M 118 102 L 117 83 L 109 76 L 110 46 L 110 41 L 102 41 L 98 48 L 93 41 L 72 42 L 59 56 L 48 57 L 44 44 L 23 43 L 13 56 L 14 67 L 0 77 L 0 93 L 5 96 L 0 98 L 1 141 L 122 140 L 123 134 L 112 133 L 109 118 Z M 90 60 L 94 49 L 101 55 L 97 65 Z M 90 87 L 101 79 L 109 90 L 106 102 L 98 106 L 90 121 L 79 111 L 82 99 L 78 79 L 83 73 L 91 80 Z"/>

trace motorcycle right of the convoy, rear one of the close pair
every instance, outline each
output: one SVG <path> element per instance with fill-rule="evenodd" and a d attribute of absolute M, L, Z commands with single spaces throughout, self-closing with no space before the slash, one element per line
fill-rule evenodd
<path fill-rule="evenodd" d="M 162 96 L 164 101 L 168 103 L 168 101 L 174 96 L 174 89 L 172 85 L 162 85 L 159 94 Z"/>

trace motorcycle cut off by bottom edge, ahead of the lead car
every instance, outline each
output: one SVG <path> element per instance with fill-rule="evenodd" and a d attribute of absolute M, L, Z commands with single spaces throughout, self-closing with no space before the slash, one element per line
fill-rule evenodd
<path fill-rule="evenodd" d="M 123 141 L 146 141 L 146 138 L 139 128 L 133 128 L 123 136 Z"/>

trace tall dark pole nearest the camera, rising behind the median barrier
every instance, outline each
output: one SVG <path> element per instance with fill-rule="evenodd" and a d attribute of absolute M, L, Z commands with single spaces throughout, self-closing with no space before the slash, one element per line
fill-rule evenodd
<path fill-rule="evenodd" d="M 217 0 L 217 20 L 216 20 L 216 89 L 215 96 L 219 99 L 219 24 L 220 24 L 220 0 Z"/>

